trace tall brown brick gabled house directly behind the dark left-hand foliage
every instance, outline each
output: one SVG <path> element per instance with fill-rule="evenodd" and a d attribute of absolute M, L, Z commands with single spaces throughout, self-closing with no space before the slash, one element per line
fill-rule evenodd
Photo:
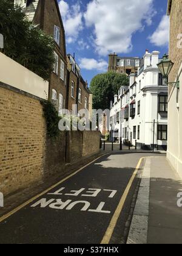
<path fill-rule="evenodd" d="M 66 40 L 61 13 L 56 0 L 14 0 L 21 5 L 33 24 L 38 24 L 45 33 L 55 39 L 56 63 L 49 81 L 49 98 L 59 112 L 66 106 L 67 56 Z"/>

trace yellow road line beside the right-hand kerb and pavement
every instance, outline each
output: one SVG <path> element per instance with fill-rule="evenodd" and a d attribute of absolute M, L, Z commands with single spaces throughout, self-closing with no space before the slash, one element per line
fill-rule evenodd
<path fill-rule="evenodd" d="M 115 213 L 114 213 L 114 215 L 113 215 L 113 217 L 112 217 L 112 219 L 110 221 L 109 227 L 106 230 L 106 233 L 105 233 L 105 235 L 103 237 L 103 240 L 101 241 L 101 244 L 109 244 L 110 238 L 111 238 L 111 236 L 113 234 L 113 230 L 116 227 L 116 223 L 117 223 L 118 218 L 119 218 L 119 216 L 121 214 L 121 211 L 123 210 L 123 206 L 124 206 L 124 203 L 126 201 L 127 195 L 129 194 L 129 191 L 130 191 L 130 188 L 132 186 L 133 180 L 135 179 L 136 173 L 138 172 L 138 169 L 140 168 L 141 161 L 144 158 L 145 157 L 140 158 L 140 160 L 138 162 L 138 165 L 136 166 L 136 169 L 133 172 L 133 175 L 132 175 L 129 183 L 127 184 L 126 190 L 124 191 L 124 194 L 121 197 L 121 200 L 120 200 L 120 202 L 118 204 L 118 207 L 116 208 Z"/>

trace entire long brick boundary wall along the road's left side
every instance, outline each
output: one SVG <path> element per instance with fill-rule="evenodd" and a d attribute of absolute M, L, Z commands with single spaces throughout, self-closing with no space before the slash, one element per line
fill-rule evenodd
<path fill-rule="evenodd" d="M 39 98 L 0 82 L 0 191 L 13 193 L 99 152 L 98 132 L 60 132 L 52 140 Z M 67 157 L 66 157 L 67 156 Z"/>

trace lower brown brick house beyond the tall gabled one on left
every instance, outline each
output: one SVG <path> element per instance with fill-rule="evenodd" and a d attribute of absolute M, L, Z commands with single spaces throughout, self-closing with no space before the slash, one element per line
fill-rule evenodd
<path fill-rule="evenodd" d="M 88 84 L 81 76 L 81 69 L 76 63 L 75 57 L 67 55 L 67 109 L 73 111 L 73 105 L 81 109 L 92 110 L 92 94 Z"/>

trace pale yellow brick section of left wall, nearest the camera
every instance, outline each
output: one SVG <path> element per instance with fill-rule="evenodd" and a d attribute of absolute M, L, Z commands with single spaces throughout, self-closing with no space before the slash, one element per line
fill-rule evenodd
<path fill-rule="evenodd" d="M 37 99 L 0 87 L 0 191 L 11 193 L 42 177 L 45 119 Z"/>

